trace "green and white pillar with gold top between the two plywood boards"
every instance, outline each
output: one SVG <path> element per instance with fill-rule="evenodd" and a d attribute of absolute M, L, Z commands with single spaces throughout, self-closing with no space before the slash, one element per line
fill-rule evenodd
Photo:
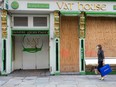
<path fill-rule="evenodd" d="M 80 73 L 85 74 L 85 29 L 86 15 L 81 12 L 79 19 L 79 38 L 80 38 Z"/>

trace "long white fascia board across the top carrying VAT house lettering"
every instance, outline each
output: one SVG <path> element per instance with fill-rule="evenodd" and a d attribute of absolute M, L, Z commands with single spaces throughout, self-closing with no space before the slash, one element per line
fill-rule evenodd
<path fill-rule="evenodd" d="M 9 0 L 9 5 L 14 0 Z M 115 5 L 115 1 L 67 1 L 67 0 L 18 0 L 19 10 L 38 10 L 38 11 L 107 11 L 107 12 L 115 12 L 113 10 L 113 6 Z M 22 4 L 23 3 L 23 4 Z M 115 7 L 115 6 L 114 6 Z M 12 7 L 9 8 L 13 9 Z"/>

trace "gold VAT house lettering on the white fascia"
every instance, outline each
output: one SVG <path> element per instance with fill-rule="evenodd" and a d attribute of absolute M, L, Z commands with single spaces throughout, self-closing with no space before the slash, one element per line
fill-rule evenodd
<path fill-rule="evenodd" d="M 104 11 L 106 10 L 106 4 L 97 4 L 97 3 L 73 3 L 73 2 L 56 2 L 59 10 L 73 10 L 73 7 L 77 5 L 77 10 L 92 10 L 92 11 Z"/>

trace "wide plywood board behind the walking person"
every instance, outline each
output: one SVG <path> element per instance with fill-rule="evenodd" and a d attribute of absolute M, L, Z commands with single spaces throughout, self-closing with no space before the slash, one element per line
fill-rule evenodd
<path fill-rule="evenodd" d="M 87 18 L 86 57 L 96 57 L 96 45 L 101 44 L 106 57 L 116 57 L 116 18 Z"/>

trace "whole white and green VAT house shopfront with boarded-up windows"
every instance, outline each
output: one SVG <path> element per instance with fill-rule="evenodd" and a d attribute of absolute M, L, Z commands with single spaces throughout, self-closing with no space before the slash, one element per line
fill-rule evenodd
<path fill-rule="evenodd" d="M 5 1 L 6 6 L 1 11 L 2 74 L 9 74 L 15 69 L 44 68 L 49 68 L 50 74 L 85 74 L 85 61 L 97 57 L 97 44 L 103 45 L 105 57 L 116 59 L 114 0 Z M 48 30 L 47 36 L 35 32 L 41 30 Z M 34 32 L 14 35 L 14 31 Z M 41 51 L 32 54 L 23 50 L 22 40 L 27 34 L 30 37 L 24 41 L 28 42 L 26 48 L 37 36 L 43 40 Z M 36 41 L 33 40 L 35 44 Z M 34 44 L 31 46 L 36 48 Z"/>

